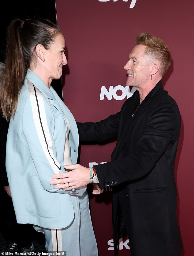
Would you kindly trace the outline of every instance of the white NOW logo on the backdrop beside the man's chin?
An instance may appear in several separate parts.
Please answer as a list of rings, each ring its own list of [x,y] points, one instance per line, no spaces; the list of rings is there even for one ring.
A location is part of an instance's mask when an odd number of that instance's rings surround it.
[[[121,95],[117,94],[117,91],[121,91]],[[125,99],[127,96],[127,99],[130,98],[133,93],[136,91],[136,87],[132,87],[131,91],[129,89],[129,85],[126,85],[125,87],[122,85],[117,85],[113,87],[112,85],[109,87],[109,91],[106,89],[105,86],[101,87],[101,92],[100,92],[100,100],[104,100],[104,96],[108,100],[111,100],[112,97],[116,100],[122,100]]]

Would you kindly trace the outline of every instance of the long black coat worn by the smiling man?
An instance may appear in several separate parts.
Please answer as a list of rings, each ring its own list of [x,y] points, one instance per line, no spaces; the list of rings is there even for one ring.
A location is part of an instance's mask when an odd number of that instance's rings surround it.
[[[111,162],[95,166],[99,187],[113,186],[115,249],[121,209],[132,256],[180,256],[174,179],[180,112],[161,81],[139,104],[135,91],[117,114],[96,123],[77,123],[80,140],[117,136]]]

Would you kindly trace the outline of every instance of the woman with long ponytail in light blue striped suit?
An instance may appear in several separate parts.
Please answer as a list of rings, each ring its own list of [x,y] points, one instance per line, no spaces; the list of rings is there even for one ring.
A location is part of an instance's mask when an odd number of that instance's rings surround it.
[[[6,170],[17,222],[43,232],[47,251],[96,256],[86,188],[69,193],[49,184],[77,161],[76,122],[50,86],[67,64],[65,39],[48,20],[15,19],[6,49],[1,107],[10,119]]]

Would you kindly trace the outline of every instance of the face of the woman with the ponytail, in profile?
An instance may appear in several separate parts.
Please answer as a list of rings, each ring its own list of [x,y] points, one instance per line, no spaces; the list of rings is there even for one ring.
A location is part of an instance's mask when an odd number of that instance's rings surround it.
[[[58,34],[55,42],[46,51],[45,68],[51,83],[52,79],[59,79],[62,76],[63,65],[67,64],[65,56],[65,39],[62,34]]]

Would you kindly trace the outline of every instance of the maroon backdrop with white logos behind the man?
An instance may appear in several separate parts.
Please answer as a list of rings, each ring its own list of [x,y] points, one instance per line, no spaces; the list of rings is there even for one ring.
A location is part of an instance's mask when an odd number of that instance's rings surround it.
[[[175,178],[185,256],[194,255],[193,9],[192,0],[56,0],[57,22],[65,36],[68,58],[62,76],[63,99],[78,122],[106,118],[118,112],[132,95],[133,91],[130,94],[125,88],[123,66],[137,34],[148,32],[169,46],[173,61],[162,82],[176,100],[182,118]],[[110,161],[114,146],[114,141],[82,145],[79,162],[89,167],[92,162]],[[88,185],[91,196],[90,189]],[[111,193],[105,191],[90,200],[99,256],[113,255]],[[127,237],[120,241],[119,256],[130,255],[129,243]]]

